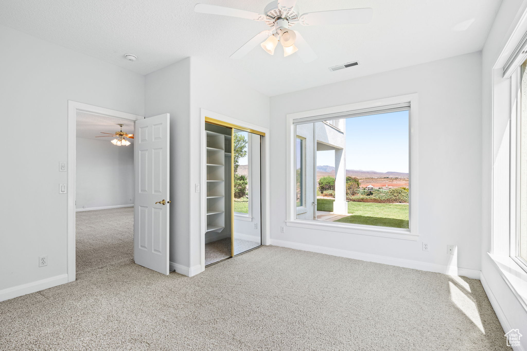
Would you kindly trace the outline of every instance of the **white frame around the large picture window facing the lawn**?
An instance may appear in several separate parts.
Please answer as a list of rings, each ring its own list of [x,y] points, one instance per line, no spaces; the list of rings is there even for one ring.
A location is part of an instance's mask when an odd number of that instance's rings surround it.
[[[334,116],[335,114],[343,114],[346,112],[353,112],[356,110],[363,110],[367,108],[384,107],[388,105],[409,103],[409,228],[392,228],[381,226],[370,226],[361,224],[340,224],[334,222],[314,221],[310,219],[296,218],[296,128],[294,121],[305,120],[306,122],[312,120],[317,116]],[[331,119],[328,116],[328,119]],[[321,108],[311,111],[298,112],[287,114],[287,217],[286,225],[292,227],[301,227],[308,229],[329,230],[333,232],[341,232],[348,234],[371,235],[389,238],[398,238],[405,240],[418,239],[418,94],[401,95],[383,99],[377,99],[367,102],[352,103],[347,105],[340,105],[334,107]],[[295,200],[292,202],[292,200]]]

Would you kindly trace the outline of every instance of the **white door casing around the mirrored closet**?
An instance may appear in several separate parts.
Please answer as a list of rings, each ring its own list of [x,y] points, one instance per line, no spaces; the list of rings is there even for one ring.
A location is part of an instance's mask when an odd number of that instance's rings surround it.
[[[201,118],[200,118],[200,136],[201,140],[201,163],[200,163],[200,188],[201,190],[201,204],[200,204],[200,213],[201,213],[201,236],[200,236],[200,246],[201,246],[201,272],[205,270],[205,233],[207,232],[207,138],[204,137],[205,134],[205,118],[216,119],[217,121],[223,122],[223,125],[227,127],[241,127],[248,132],[257,132],[264,133],[265,136],[261,137],[261,233],[262,233],[262,245],[270,245],[270,191],[269,191],[269,128],[265,128],[256,124],[252,124],[246,121],[241,121],[241,119],[236,119],[228,117],[216,112],[209,111],[207,109],[201,108]]]

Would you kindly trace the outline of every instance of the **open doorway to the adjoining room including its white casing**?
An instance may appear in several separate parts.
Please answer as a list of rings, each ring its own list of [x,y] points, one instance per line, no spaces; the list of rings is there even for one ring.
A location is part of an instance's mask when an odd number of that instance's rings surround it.
[[[77,271],[133,258],[134,139],[123,138],[130,142],[128,146],[112,141],[120,139],[113,136],[121,131],[118,124],[131,136],[141,119],[68,102],[68,155],[67,162],[60,163],[60,171],[67,172],[67,183],[60,190],[67,193],[68,282],[76,279]],[[104,135],[109,137],[95,138]]]

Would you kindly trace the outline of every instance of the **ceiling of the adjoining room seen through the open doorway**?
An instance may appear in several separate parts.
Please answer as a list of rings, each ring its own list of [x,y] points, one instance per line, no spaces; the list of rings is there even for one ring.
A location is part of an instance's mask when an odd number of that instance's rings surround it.
[[[115,137],[96,138],[101,136],[101,132],[115,133],[121,129],[118,124],[123,124],[123,132],[134,133],[134,123],[114,117],[97,115],[89,112],[77,112],[77,138],[86,138],[111,142]],[[133,139],[129,142],[133,143]]]

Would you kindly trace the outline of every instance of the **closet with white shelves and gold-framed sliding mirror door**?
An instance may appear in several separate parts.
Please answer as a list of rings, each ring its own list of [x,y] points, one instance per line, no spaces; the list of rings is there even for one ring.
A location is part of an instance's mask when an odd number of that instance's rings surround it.
[[[252,132],[206,118],[206,266],[261,245],[263,133]]]

